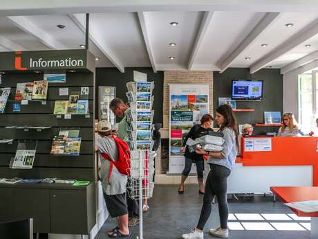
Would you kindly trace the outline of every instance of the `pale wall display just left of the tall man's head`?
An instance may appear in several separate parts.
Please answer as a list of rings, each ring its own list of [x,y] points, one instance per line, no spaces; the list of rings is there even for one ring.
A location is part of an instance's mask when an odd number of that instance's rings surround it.
[[[116,87],[98,87],[100,101],[99,101],[99,120],[105,120],[111,122],[111,125],[115,125],[115,115],[109,108],[111,100],[116,97]]]

